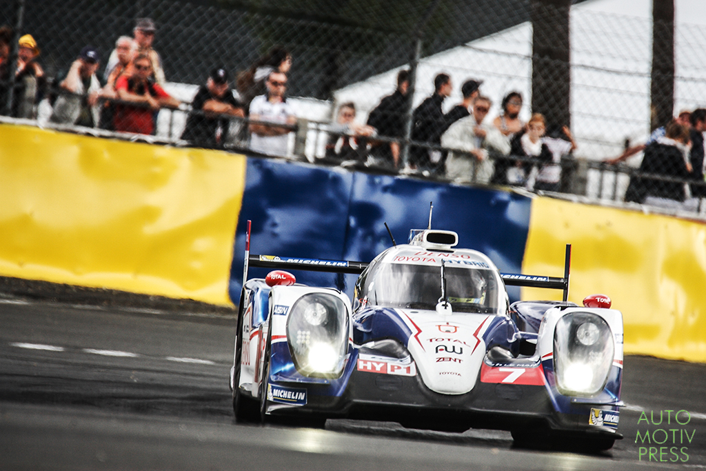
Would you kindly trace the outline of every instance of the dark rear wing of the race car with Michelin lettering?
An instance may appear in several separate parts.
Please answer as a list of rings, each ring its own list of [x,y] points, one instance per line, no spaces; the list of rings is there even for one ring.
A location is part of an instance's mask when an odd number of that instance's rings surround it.
[[[563,290],[563,300],[566,301],[569,292],[569,266],[571,261],[571,244],[566,244],[564,258],[564,276],[556,278],[551,276],[519,275],[514,273],[501,273],[505,285],[525,286],[533,288],[549,288]],[[359,275],[368,266],[366,262],[319,260],[316,258],[294,258],[273,255],[250,254],[250,237],[246,236],[245,266],[243,284],[247,280],[248,266],[270,268],[271,270],[307,270],[328,273],[351,273]]]

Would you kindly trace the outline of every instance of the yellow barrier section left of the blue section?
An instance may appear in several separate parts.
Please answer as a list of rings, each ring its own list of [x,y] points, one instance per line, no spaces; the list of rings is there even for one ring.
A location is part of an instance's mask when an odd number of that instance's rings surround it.
[[[246,157],[0,124],[0,275],[231,304]]]

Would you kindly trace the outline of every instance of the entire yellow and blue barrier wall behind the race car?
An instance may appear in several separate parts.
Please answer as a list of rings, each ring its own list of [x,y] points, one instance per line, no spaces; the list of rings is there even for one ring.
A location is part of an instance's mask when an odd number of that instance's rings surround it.
[[[459,234],[505,273],[606,294],[625,351],[706,362],[706,224],[491,189],[0,124],[0,276],[238,302],[251,254],[370,261],[409,229]],[[353,292],[356,275],[295,271]],[[249,276],[266,270],[251,268]],[[510,299],[561,292],[510,288]]]

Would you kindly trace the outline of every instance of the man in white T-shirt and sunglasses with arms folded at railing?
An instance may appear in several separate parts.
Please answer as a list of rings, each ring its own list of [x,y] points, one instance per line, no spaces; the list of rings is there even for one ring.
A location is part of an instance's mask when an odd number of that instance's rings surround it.
[[[285,92],[287,91],[287,76],[283,72],[273,71],[267,81],[266,95],[258,95],[250,103],[251,121],[267,121],[272,124],[297,124],[294,109],[289,106]],[[256,152],[287,157],[289,149],[289,133],[291,129],[272,124],[251,122],[250,148]]]

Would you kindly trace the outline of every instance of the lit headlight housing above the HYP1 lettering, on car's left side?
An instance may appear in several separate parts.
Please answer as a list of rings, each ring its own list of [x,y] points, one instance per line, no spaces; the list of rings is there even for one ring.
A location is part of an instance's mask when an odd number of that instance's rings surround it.
[[[287,318],[294,366],[304,376],[337,378],[348,350],[348,311],[339,297],[310,293],[294,302]]]

